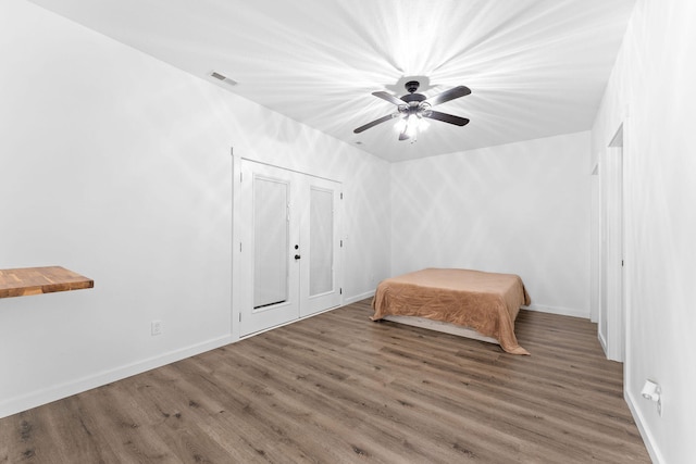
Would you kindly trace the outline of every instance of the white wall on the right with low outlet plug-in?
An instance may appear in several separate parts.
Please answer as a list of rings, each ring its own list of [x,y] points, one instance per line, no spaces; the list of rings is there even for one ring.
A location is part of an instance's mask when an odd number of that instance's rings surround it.
[[[625,398],[662,463],[696,456],[695,17],[693,1],[638,0],[593,128],[601,163],[624,124]],[[646,378],[662,386],[661,417]]]

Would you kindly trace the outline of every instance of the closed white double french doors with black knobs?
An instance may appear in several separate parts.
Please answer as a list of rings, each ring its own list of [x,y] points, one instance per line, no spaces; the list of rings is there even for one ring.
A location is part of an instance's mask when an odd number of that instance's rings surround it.
[[[239,328],[247,336],[340,304],[340,184],[241,160]]]

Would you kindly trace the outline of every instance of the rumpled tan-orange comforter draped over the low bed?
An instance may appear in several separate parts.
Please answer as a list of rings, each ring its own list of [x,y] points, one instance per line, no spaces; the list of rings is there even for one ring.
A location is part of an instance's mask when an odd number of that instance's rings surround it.
[[[372,321],[401,315],[448,322],[497,339],[508,353],[530,354],[514,336],[520,305],[530,303],[518,275],[427,268],[380,283]]]

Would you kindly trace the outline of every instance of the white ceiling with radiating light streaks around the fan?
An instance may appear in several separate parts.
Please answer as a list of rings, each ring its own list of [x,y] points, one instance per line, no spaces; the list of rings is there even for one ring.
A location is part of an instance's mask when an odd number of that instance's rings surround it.
[[[635,0],[33,0],[389,161],[592,127]],[[237,80],[215,81],[211,72]],[[399,141],[371,95],[427,97],[468,117]]]

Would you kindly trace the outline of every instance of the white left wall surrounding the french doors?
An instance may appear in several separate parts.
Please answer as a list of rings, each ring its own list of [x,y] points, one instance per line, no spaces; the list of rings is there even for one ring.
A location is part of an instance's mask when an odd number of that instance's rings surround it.
[[[0,57],[0,268],[95,279],[0,299],[0,416],[233,341],[231,146],[344,183],[346,300],[388,276],[384,161],[23,0]]]

